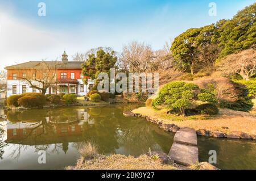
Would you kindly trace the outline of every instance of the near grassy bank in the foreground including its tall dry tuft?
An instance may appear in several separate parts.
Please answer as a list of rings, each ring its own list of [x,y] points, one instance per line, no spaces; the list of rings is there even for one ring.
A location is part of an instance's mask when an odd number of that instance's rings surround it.
[[[160,169],[174,170],[176,169],[171,159],[167,157],[164,160],[160,159],[158,154],[151,153],[141,155],[138,158],[133,156],[112,154],[102,155],[98,153],[98,146],[93,141],[85,142],[79,149],[81,157],[77,161],[76,166],[69,166],[66,169],[90,169],[90,170],[144,170],[144,169]],[[162,158],[162,157],[161,157]]]

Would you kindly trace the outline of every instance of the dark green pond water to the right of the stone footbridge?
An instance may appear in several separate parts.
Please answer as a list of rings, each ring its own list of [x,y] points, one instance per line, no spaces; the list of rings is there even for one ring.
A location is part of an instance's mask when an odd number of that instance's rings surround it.
[[[200,161],[208,161],[209,150],[217,151],[220,169],[256,169],[256,143],[252,140],[199,137]]]

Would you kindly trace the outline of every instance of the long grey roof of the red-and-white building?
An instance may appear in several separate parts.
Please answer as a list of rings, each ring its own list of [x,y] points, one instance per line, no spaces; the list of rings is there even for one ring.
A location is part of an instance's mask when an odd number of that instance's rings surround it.
[[[81,64],[83,62],[79,61],[68,61],[66,63],[62,61],[44,61],[50,68],[57,68],[57,69],[81,69]],[[16,64],[11,66],[6,66],[5,69],[34,69],[36,66],[39,66],[42,61],[29,61],[24,62],[22,64]]]

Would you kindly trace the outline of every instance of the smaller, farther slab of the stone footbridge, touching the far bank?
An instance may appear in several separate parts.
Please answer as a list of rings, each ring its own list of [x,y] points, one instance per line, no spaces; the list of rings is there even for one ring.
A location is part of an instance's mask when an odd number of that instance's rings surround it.
[[[176,132],[174,141],[185,145],[197,145],[197,136],[194,129],[181,128]]]

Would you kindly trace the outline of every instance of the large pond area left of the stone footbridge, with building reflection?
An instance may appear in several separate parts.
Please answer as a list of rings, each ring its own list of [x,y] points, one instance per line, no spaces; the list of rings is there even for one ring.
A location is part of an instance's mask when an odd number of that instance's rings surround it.
[[[8,145],[3,148],[0,169],[64,169],[75,165],[84,141],[94,141],[102,154],[138,156],[149,148],[168,153],[174,134],[144,119],[122,115],[133,108],[113,105],[5,112],[7,121],[2,123],[6,124]],[[46,151],[46,164],[38,163],[39,150]]]

